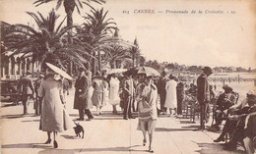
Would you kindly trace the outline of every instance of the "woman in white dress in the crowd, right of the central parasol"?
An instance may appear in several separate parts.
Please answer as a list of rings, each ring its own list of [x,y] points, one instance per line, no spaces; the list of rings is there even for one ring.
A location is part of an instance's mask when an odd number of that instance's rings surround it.
[[[177,82],[174,80],[172,75],[169,76],[169,80],[166,82],[166,99],[164,107],[169,109],[169,114],[171,115],[171,110],[174,110],[174,115],[176,114],[177,108],[177,92],[176,92]]]

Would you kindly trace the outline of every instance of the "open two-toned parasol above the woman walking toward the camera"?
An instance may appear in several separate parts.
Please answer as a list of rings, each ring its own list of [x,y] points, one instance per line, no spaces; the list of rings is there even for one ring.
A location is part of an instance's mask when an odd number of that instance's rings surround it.
[[[150,67],[138,67],[128,70],[124,75],[146,75],[146,77],[160,76],[160,73]]]

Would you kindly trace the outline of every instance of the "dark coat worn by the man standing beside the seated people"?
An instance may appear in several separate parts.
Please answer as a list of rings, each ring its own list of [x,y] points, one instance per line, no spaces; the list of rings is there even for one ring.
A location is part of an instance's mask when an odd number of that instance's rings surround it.
[[[210,87],[205,74],[197,78],[197,100],[199,104],[210,102]]]

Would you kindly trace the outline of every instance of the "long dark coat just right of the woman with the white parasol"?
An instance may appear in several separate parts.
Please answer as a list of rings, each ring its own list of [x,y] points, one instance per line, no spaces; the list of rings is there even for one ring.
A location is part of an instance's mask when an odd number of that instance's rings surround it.
[[[74,109],[92,109],[92,99],[89,98],[90,80],[86,76],[77,78],[75,82]]]

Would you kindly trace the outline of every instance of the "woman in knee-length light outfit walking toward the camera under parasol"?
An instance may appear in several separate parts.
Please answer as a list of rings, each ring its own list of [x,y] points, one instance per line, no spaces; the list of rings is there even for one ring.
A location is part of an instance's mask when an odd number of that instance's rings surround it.
[[[145,86],[141,84],[142,87]],[[149,144],[149,152],[154,152],[152,147],[153,142],[153,133],[156,129],[157,125],[157,101],[158,101],[158,88],[153,83],[152,77],[146,78],[146,86],[144,87],[141,100],[138,101],[138,112],[139,112],[139,123],[138,130],[142,130],[143,132],[143,145],[145,146],[147,143],[146,133],[148,131],[150,144]]]

